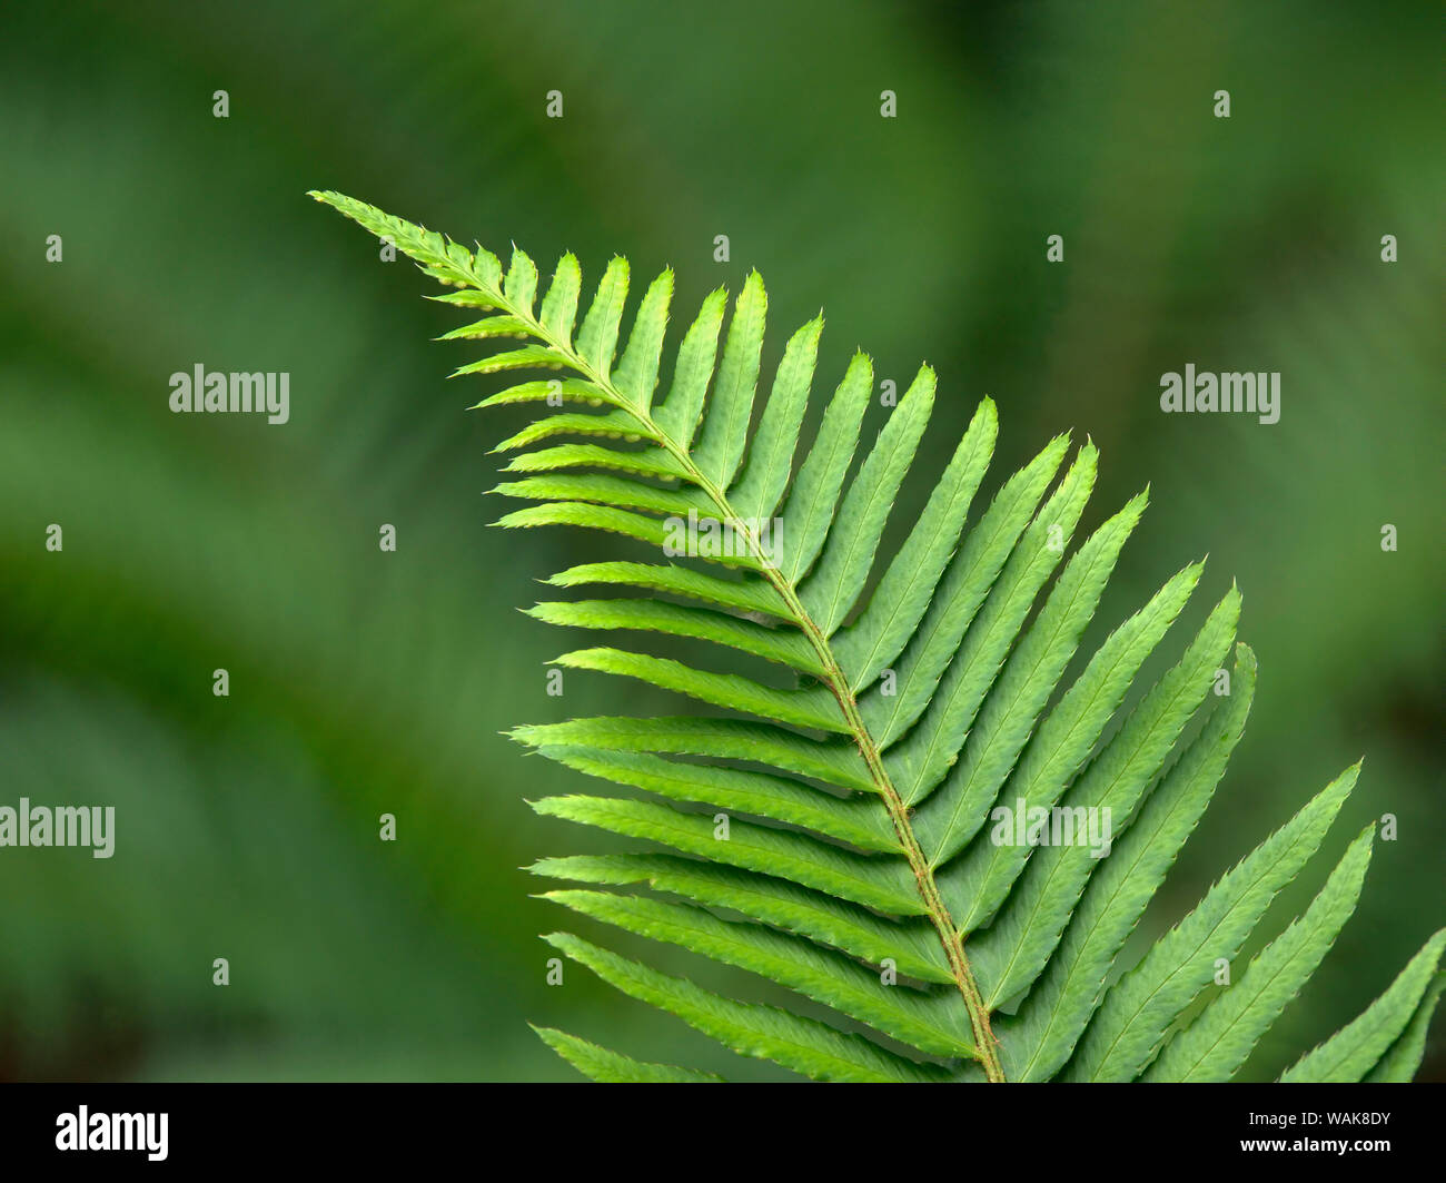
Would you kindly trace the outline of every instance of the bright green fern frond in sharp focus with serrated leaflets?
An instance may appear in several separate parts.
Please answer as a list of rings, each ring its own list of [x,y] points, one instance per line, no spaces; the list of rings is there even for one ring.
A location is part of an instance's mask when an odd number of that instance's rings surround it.
[[[723,998],[567,933],[548,941],[729,1049],[816,1079],[1216,1080],[1239,1070],[1351,915],[1374,824],[1306,913],[1203,1005],[1219,966],[1320,846],[1359,765],[1116,973],[1126,937],[1223,774],[1255,686],[1254,655],[1233,644],[1241,599],[1232,587],[1183,658],[1124,710],[1141,665],[1200,578],[1196,563],[1115,629],[1056,699],[1145,493],[1077,548],[1031,618],[1083,515],[1096,451],[1079,448],[1045,499],[1069,447],[1066,437],[1051,440],[964,534],[996,430],[985,399],[908,539],[862,600],[930,414],[928,367],[844,492],[873,389],[870,363],[853,357],[794,473],[823,323],[790,338],[750,437],[766,305],[756,273],[735,302],[722,359],[720,289],[684,336],[671,389],[654,405],[671,272],[648,288],[615,366],[623,259],[609,265],[574,333],[581,276],[571,255],[534,312],[538,273],[521,250],[503,273],[480,247],[340,194],[312,197],[455,289],[435,299],[487,312],[448,338],[528,341],[457,373],[570,375],[523,382],[479,406],[594,408],[544,415],[499,444],[547,444],[513,457],[509,470],[519,479],[496,490],[541,505],[500,525],[580,525],[669,552],[681,539],[714,568],[574,567],[549,583],[654,596],[542,603],[532,615],[709,641],[795,675],[778,686],[617,648],[581,649],[558,664],[641,678],[759,722],[574,719],[513,735],[596,778],[706,807],[613,795],[536,803],[544,814],[677,852],[544,859],[532,868],[538,875],[591,885],[547,898],[759,973],[830,1008],[833,1021]],[[552,443],[558,435],[589,443]],[[1228,694],[1212,693],[1225,686]],[[1021,842],[1019,816],[1031,829],[1063,826],[1069,837],[1040,845],[1030,837],[1044,832],[1034,830]],[[1076,840],[1086,830],[1090,840]],[[633,885],[656,895],[596,889]],[[1281,1079],[1408,1079],[1440,994],[1443,947],[1446,930],[1355,1022]],[[561,1031],[539,1034],[596,1079],[711,1079]]]

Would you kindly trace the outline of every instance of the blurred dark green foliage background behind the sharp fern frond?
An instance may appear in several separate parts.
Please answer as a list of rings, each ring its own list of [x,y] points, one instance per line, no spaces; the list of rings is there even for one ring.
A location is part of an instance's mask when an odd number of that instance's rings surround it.
[[[613,252],[636,276],[671,263],[675,321],[756,266],[765,364],[824,305],[816,392],[855,346],[899,389],[937,367],[923,473],[991,393],[986,490],[1064,428],[1103,453],[1086,526],[1148,482],[1083,652],[1209,552],[1163,659],[1236,577],[1261,688],[1147,933],[1361,755],[1274,930],[1351,834],[1400,819],[1251,1075],[1446,920],[1439,6],[250,0],[3,22],[0,801],[114,804],[117,850],[0,850],[0,1077],[573,1077],[528,1020],[768,1075],[580,969],[545,985],[536,934],[580,921],[518,868],[600,839],[531,813],[578,778],[499,732],[675,704],[586,674],[547,697],[576,638],[515,609],[616,544],[486,528],[487,450],[521,418],[463,412],[497,383],[444,380],[474,356],[428,340],[455,311],[308,188],[539,263],[571,249],[594,279]],[[1280,370],[1281,421],[1163,415],[1160,375],[1186,362]],[[291,422],[171,414],[168,376],[197,363],[289,372]]]

